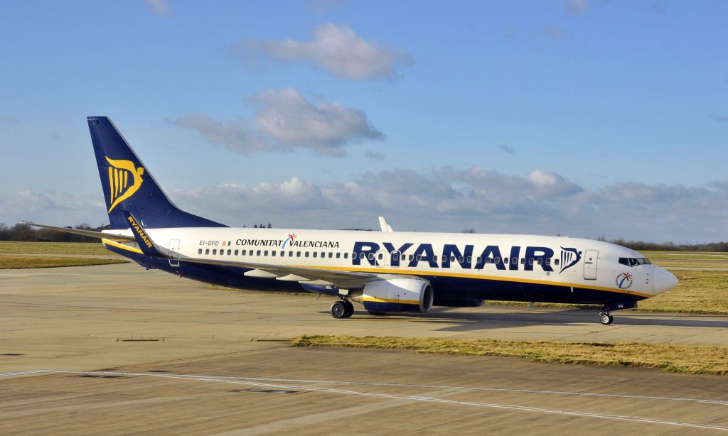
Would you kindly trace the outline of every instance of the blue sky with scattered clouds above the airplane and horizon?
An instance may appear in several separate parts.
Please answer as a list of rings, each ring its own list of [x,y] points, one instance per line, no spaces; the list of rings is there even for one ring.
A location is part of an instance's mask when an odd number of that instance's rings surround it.
[[[728,240],[727,1],[3,1],[0,222],[108,223],[86,116],[227,225]]]

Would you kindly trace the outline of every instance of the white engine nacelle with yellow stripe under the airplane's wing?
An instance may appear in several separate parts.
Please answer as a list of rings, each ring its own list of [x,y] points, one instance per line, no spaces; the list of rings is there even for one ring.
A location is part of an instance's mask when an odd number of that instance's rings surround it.
[[[367,283],[363,294],[352,299],[370,312],[425,313],[432,309],[434,296],[432,285],[425,280],[392,278]]]

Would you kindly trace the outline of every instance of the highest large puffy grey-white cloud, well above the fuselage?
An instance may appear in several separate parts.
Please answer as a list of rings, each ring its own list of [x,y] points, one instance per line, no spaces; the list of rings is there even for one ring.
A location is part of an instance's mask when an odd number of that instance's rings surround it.
[[[309,62],[335,76],[351,79],[394,78],[398,66],[411,63],[407,53],[366,41],[348,25],[333,23],[315,28],[310,41],[243,41],[232,49],[234,55],[246,61],[251,52],[274,60]]]

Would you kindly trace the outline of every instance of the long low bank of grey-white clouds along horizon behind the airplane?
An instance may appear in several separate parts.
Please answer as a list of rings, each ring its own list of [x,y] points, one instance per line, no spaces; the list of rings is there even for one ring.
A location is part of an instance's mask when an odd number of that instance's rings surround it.
[[[474,227],[480,233],[604,234],[678,243],[728,239],[728,181],[708,187],[620,182],[587,189],[549,171],[514,176],[443,166],[368,172],[328,183],[291,177],[167,193],[186,211],[235,226],[376,228],[376,217],[384,215],[403,231]],[[106,221],[106,211],[100,189],[93,198],[28,191],[0,197],[0,222],[20,219],[96,225]]]

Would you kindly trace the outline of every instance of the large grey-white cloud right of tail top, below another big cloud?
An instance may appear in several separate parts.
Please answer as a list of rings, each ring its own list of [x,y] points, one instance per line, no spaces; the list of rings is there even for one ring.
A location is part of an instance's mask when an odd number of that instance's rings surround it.
[[[189,115],[173,122],[193,129],[214,145],[240,153],[308,148],[320,156],[344,156],[350,143],[384,140],[362,110],[336,102],[309,102],[293,88],[265,91],[251,97],[258,112],[253,121],[214,121]]]

